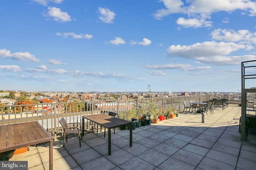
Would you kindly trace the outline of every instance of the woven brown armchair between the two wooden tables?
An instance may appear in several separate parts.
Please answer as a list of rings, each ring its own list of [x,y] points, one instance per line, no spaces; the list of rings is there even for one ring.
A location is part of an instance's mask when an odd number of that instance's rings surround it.
[[[79,123],[79,122],[67,123],[66,120],[63,117],[60,119],[59,122],[62,125],[63,131],[64,131],[64,134],[63,134],[63,149],[65,148],[65,137],[66,137],[66,143],[67,143],[68,142],[68,135],[73,135],[73,134],[78,135],[79,145],[81,147],[81,140],[83,140],[81,123]],[[68,125],[72,125],[72,126],[68,127]],[[81,139],[80,139],[80,137],[81,137]]]

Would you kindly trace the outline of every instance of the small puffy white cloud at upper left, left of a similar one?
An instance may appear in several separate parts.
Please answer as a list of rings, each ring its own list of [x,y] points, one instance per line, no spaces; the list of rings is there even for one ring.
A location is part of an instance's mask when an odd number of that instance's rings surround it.
[[[54,21],[69,22],[71,17],[67,12],[62,12],[60,8],[48,7],[48,14],[45,16],[53,17]]]

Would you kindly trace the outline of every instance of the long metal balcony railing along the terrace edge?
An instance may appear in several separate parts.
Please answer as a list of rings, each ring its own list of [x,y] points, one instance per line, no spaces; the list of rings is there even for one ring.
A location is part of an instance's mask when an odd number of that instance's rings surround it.
[[[59,120],[64,117],[68,123],[81,122],[83,115],[98,114],[108,111],[127,112],[131,109],[140,110],[141,107],[154,103],[160,109],[172,108],[184,109],[183,100],[204,102],[212,98],[223,98],[223,96],[178,96],[167,98],[142,98],[127,100],[86,101],[86,102],[58,102],[46,104],[28,104],[0,106],[0,125],[38,121],[45,129],[54,136],[59,132],[61,125]],[[254,101],[255,96],[248,97],[248,101]],[[238,104],[240,96],[230,96],[230,104]],[[148,109],[148,107],[145,107]]]

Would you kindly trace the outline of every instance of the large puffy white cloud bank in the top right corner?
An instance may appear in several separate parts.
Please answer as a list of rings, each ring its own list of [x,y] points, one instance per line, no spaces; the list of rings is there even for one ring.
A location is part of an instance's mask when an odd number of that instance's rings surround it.
[[[256,15],[256,2],[251,0],[188,0],[187,6],[181,0],[160,0],[166,8],[157,10],[154,18],[161,20],[171,14],[187,14],[188,18],[179,18],[176,23],[184,27],[209,27],[212,22],[207,21],[210,15],[215,12],[233,12],[242,10],[249,13],[249,16]],[[226,23],[228,20],[224,20]]]

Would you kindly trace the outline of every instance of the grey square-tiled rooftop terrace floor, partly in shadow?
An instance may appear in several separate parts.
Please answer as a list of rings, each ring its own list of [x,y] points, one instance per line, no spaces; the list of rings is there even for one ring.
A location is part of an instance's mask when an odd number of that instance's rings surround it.
[[[251,109],[250,114],[255,114]],[[112,131],[112,154],[103,133],[85,134],[82,147],[78,138],[54,141],[55,170],[252,170],[256,169],[256,135],[240,140],[238,133],[241,107],[215,109],[214,114],[180,113],[174,119],[146,125],[133,131]],[[107,133],[106,133],[107,134]],[[49,169],[48,143],[30,147],[10,160],[28,161],[30,170]]]

